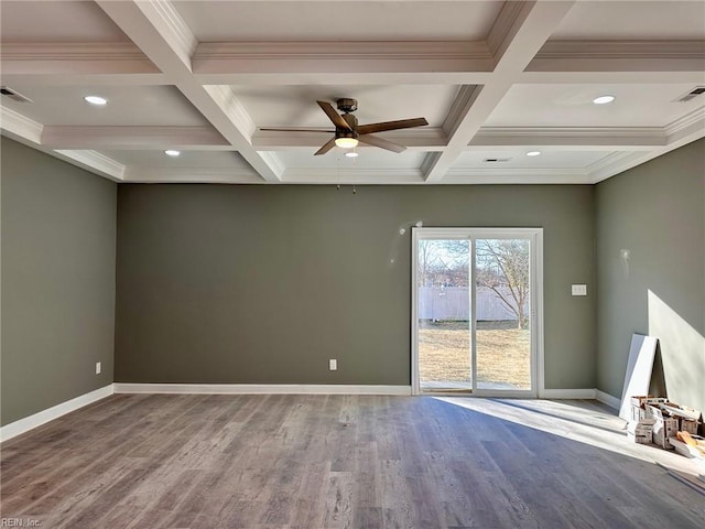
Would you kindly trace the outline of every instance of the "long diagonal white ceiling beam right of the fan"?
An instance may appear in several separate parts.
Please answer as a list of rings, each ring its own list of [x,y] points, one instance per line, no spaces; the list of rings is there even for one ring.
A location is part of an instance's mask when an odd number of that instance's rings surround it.
[[[502,7],[487,39],[496,61],[492,78],[482,87],[466,87],[458,94],[460,110],[446,129],[447,148],[425,164],[427,183],[441,181],[453,166],[573,4],[539,1],[507,2]]]

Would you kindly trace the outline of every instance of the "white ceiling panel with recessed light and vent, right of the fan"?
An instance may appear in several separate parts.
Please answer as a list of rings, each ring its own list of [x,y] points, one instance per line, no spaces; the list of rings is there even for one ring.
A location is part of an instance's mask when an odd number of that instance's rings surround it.
[[[705,96],[673,100],[693,89],[669,85],[514,85],[487,120],[494,127],[664,127],[705,106]],[[594,98],[612,95],[609,105]]]

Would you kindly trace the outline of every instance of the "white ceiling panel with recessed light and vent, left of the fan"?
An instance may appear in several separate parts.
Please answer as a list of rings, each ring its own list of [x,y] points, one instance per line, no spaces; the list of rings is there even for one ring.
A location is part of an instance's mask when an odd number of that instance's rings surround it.
[[[2,104],[42,125],[199,126],[200,114],[172,86],[36,86],[13,85],[33,102],[4,98]],[[108,105],[84,101],[98,95]]]

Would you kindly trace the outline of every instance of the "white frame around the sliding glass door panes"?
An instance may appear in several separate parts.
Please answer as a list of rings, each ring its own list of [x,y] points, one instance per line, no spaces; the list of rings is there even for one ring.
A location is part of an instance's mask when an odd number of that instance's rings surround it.
[[[523,237],[531,240],[530,253],[530,313],[531,313],[531,390],[488,390],[476,389],[475,374],[476,355],[473,361],[473,390],[478,397],[536,397],[544,389],[544,336],[543,336],[543,228],[416,228],[411,229],[411,389],[413,395],[421,395],[419,374],[419,289],[416,276],[419,268],[420,239],[467,239],[470,240],[470,252],[477,239],[501,239]],[[470,256],[470,267],[475,267],[475,258]],[[475,270],[473,270],[474,272]],[[475,274],[473,273],[473,277]],[[475,299],[475,281],[470,281],[470,295]],[[470,317],[470,325],[475,325],[475,317]],[[473,333],[474,335],[475,333]],[[474,347],[474,345],[473,345]],[[469,354],[469,352],[468,352]],[[429,395],[424,391],[423,395]],[[457,395],[457,393],[454,393]]]

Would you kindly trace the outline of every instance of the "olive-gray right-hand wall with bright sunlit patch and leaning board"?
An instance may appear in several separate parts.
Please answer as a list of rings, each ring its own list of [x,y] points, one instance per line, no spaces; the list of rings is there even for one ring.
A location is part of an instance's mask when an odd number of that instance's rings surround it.
[[[669,397],[705,410],[705,140],[599,183],[596,206],[597,387],[621,396],[631,334],[649,334]]]

